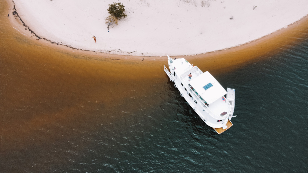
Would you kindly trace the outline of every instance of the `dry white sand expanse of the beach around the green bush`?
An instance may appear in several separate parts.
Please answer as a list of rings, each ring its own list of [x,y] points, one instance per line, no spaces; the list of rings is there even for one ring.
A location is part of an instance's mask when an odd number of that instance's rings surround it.
[[[78,49],[139,56],[222,50],[271,34],[308,14],[308,0],[14,2],[22,20],[41,37]],[[124,4],[127,17],[107,32],[105,18],[113,2]]]

